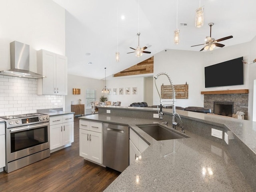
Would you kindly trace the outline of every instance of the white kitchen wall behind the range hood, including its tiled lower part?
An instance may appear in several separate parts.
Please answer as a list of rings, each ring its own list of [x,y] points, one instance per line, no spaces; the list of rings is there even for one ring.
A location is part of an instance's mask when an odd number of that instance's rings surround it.
[[[10,69],[10,42],[30,45],[30,70],[36,50],[65,55],[65,10],[52,0],[0,0],[0,70]],[[51,70],[51,69],[49,69]],[[0,115],[64,107],[63,96],[38,96],[36,80],[0,76]]]

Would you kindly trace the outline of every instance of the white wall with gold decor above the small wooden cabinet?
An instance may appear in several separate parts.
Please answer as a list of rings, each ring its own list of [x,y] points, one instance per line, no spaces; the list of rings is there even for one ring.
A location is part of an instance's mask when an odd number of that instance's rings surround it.
[[[72,101],[78,104],[78,99],[82,100],[82,104],[86,104],[86,89],[96,90],[96,100],[100,100],[102,96],[101,90],[104,87],[104,81],[81,76],[68,74],[68,95],[65,96],[66,111],[71,111]],[[80,95],[73,95],[73,88],[78,88],[81,91]],[[86,106],[86,105],[85,105]],[[91,108],[87,109],[85,114],[90,114]]]

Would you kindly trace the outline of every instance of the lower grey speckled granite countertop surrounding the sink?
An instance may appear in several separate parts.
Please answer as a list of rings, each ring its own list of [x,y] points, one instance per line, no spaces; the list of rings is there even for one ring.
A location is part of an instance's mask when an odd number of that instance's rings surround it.
[[[142,108],[138,110],[142,110]],[[202,114],[188,114],[187,112],[182,114],[180,111],[179,114],[181,116],[188,115],[187,118],[196,118],[197,120],[199,118],[199,120],[214,124],[222,124],[218,117],[206,118],[203,115],[203,118]],[[138,160],[128,166],[106,188],[106,192],[253,191],[226,147],[220,143],[198,136],[188,130],[185,130],[185,134],[190,138],[156,141],[136,126],[161,123],[162,121],[159,119],[108,116],[106,114],[89,115],[80,117],[80,119],[129,125],[150,144]],[[227,121],[229,126],[231,122]],[[236,132],[235,127],[234,132]],[[248,132],[240,134],[244,140],[246,140],[246,135],[248,136]]]

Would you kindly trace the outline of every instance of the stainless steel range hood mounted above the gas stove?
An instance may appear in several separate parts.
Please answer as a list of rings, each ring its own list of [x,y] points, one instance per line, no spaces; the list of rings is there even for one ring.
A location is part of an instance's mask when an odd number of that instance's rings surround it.
[[[29,70],[29,45],[14,41],[10,43],[11,69],[0,71],[1,75],[25,77],[25,78],[44,78]]]

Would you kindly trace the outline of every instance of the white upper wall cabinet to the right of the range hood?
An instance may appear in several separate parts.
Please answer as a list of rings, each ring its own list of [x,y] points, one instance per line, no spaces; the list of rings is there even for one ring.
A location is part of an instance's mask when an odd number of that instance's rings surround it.
[[[67,95],[67,58],[46,50],[37,51],[37,72],[46,76],[37,80],[38,95]]]

